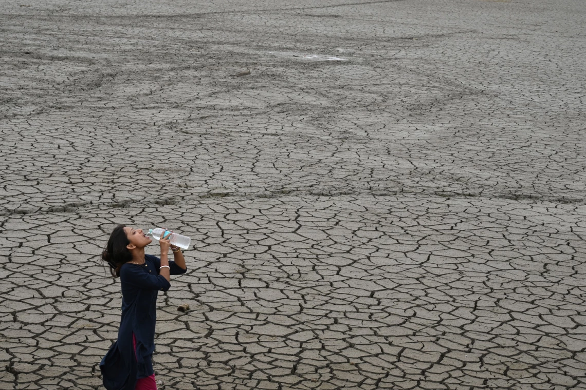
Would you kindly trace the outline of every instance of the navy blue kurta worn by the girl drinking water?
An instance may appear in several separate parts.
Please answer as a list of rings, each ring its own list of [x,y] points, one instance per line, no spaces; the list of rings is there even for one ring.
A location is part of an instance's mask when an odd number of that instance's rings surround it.
[[[122,287],[122,316],[118,340],[112,344],[100,363],[107,390],[134,390],[139,378],[154,374],[151,356],[155,351],[156,296],[171,284],[159,275],[161,259],[145,255],[144,264],[123,264],[120,268]],[[169,261],[171,275],[186,270]],[[137,340],[137,352],[132,348],[132,334]]]

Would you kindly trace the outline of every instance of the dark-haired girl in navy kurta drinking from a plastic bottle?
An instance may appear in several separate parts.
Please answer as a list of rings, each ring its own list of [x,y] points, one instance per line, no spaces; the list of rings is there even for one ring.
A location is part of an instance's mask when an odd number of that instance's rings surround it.
[[[156,390],[151,357],[155,350],[156,295],[167,291],[169,275],[185,274],[185,259],[179,247],[169,243],[171,234],[159,240],[161,258],[145,254],[152,242],[142,229],[117,226],[102,259],[120,277],[122,316],[118,341],[100,363],[107,390]],[[169,261],[169,248],[175,261]]]

